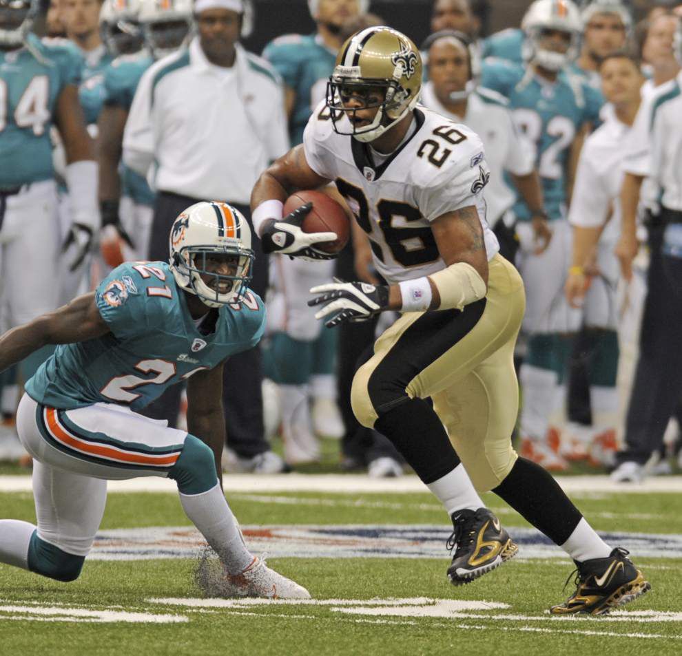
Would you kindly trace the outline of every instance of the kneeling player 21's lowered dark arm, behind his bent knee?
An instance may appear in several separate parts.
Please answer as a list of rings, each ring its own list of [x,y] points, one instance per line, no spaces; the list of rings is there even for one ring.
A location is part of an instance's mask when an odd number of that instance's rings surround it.
[[[216,459],[216,474],[223,484],[220,461],[225,445],[223,364],[199,371],[187,380],[187,432],[205,442]]]

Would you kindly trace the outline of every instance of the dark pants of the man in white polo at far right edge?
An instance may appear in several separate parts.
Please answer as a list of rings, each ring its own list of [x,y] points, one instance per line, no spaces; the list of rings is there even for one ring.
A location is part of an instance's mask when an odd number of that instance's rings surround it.
[[[618,454],[619,463],[643,465],[661,447],[682,396],[682,259],[662,253],[668,222],[682,222],[682,213],[663,209],[650,228],[639,361],[626,418],[626,449]]]

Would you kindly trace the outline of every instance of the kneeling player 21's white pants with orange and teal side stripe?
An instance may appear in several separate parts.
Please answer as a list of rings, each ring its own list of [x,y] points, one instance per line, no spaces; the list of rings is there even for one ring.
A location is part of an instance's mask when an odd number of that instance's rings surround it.
[[[17,432],[34,458],[38,536],[76,556],[92,547],[107,479],[167,476],[187,438],[121,405],[56,410],[28,394],[19,404]]]

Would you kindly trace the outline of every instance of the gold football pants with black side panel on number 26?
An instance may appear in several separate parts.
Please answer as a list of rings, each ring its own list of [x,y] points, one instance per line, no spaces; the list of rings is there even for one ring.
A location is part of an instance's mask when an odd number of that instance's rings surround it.
[[[517,458],[513,356],[524,308],[521,276],[495,255],[484,299],[462,311],[402,315],[355,374],[351,403],[358,421],[373,427],[396,405],[431,397],[476,489],[497,487]]]

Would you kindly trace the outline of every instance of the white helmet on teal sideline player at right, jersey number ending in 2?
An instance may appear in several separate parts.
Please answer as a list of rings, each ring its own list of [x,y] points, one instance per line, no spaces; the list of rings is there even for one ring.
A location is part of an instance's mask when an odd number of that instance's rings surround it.
[[[571,0],[535,0],[521,21],[521,29],[526,32],[524,55],[547,70],[561,70],[578,56],[582,21],[577,6]],[[568,50],[553,52],[541,47],[544,30],[570,34]]]

